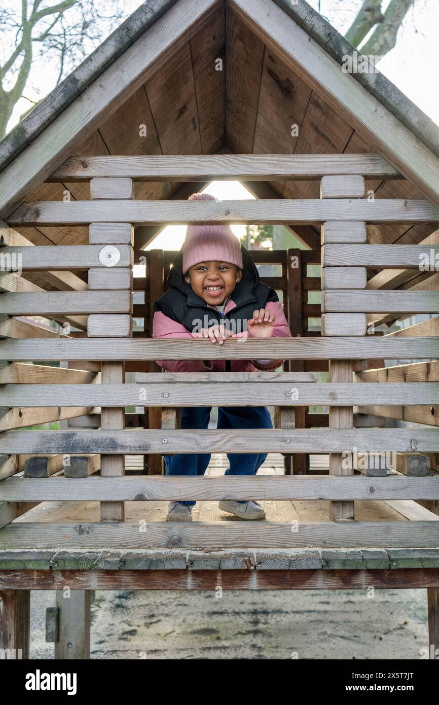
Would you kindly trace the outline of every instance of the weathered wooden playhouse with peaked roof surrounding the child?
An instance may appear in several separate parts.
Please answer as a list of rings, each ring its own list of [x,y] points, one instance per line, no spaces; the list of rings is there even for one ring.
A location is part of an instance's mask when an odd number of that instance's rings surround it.
[[[376,329],[439,313],[439,128],[380,73],[345,73],[354,52],[304,1],[144,3],[1,142],[4,657],[28,656],[32,589],[60,596],[56,658],[87,658],[95,589],[372,586],[427,589],[438,658],[439,317]],[[256,200],[187,201],[218,179]],[[144,247],[168,223],[217,221],[285,224],[303,243],[252,252],[278,267],[262,279],[292,338],[151,337],[175,252]],[[154,362],[214,357],[285,363]],[[200,393],[270,405],[276,428],[179,429]],[[163,477],[164,453],[194,450],[282,462]],[[263,501],[267,520],[226,520],[221,498]],[[171,499],[202,501],[192,524],[164,521]]]

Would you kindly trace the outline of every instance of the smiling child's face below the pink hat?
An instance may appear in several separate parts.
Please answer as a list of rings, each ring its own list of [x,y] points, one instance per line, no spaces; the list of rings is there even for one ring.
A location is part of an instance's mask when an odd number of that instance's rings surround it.
[[[192,291],[211,305],[222,304],[241,278],[242,270],[235,264],[214,260],[194,264],[185,274]]]

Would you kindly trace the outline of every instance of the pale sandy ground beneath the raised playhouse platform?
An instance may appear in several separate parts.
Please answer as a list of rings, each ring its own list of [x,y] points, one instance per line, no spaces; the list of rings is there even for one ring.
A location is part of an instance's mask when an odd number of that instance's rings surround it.
[[[30,658],[53,591],[32,592]],[[408,659],[428,644],[426,590],[97,591],[91,658]]]

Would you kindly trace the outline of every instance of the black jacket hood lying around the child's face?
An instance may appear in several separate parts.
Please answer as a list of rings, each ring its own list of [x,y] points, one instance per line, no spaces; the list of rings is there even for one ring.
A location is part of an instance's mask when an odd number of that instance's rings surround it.
[[[256,264],[254,264],[252,257],[250,257],[248,250],[241,245],[242,252],[242,278],[241,281],[237,283],[235,289],[231,294],[231,298],[237,306],[244,302],[256,301],[255,290],[259,286],[259,272],[256,269]],[[187,302],[191,305],[206,305],[206,302],[202,300],[197,294],[192,291],[192,286],[185,282],[183,278],[183,252],[180,250],[175,256],[173,261],[173,266],[171,271],[169,271],[168,277],[166,278],[166,283],[169,287],[174,287],[178,289],[187,297]]]

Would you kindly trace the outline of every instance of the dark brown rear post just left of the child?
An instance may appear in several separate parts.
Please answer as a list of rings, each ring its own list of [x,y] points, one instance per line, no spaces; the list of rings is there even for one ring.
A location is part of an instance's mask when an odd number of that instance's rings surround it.
[[[149,281],[149,337],[152,337],[152,319],[154,318],[154,303],[163,294],[164,287],[164,266],[163,266],[163,250],[149,250],[148,253],[148,272],[147,281]],[[149,372],[161,372],[156,362],[149,362]],[[149,429],[161,428],[161,407],[149,407],[148,409]],[[163,474],[163,455],[148,456],[148,474],[162,475]]]

